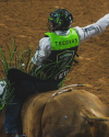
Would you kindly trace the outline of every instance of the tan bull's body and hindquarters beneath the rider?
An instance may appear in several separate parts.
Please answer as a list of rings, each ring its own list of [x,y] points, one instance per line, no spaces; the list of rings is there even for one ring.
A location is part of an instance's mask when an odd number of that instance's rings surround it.
[[[48,101],[53,92],[33,95],[23,105],[23,133],[27,137],[109,137],[105,118],[109,109],[96,95],[76,90]]]

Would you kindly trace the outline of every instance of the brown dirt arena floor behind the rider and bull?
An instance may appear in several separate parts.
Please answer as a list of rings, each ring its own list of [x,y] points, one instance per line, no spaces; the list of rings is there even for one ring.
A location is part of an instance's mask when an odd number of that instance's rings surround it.
[[[29,45],[37,49],[39,39],[48,31],[49,13],[58,8],[72,12],[72,27],[84,27],[109,13],[109,0],[0,0],[0,45],[5,55],[12,39],[23,49]],[[81,89],[96,94],[109,106],[109,27],[83,42],[78,55],[78,65],[66,76],[64,85],[89,84]],[[0,116],[0,137],[4,137],[3,117]]]

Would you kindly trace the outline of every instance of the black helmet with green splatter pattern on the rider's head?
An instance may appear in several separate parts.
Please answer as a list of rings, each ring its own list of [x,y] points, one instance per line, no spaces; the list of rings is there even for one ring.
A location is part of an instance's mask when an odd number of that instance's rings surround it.
[[[64,9],[57,9],[50,13],[47,26],[50,32],[68,31],[71,27],[72,21],[71,12]]]

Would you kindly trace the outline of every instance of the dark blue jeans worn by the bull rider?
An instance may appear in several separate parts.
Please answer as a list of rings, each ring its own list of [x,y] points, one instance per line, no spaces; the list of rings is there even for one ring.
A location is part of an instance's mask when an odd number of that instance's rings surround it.
[[[58,83],[55,81],[41,81],[39,80],[36,83],[33,83],[28,80],[23,80],[16,82],[16,93],[12,101],[12,103],[8,106],[4,119],[4,129],[5,134],[14,134],[14,133],[22,133],[22,123],[21,123],[21,109],[22,104],[26,98],[29,95],[57,90]]]

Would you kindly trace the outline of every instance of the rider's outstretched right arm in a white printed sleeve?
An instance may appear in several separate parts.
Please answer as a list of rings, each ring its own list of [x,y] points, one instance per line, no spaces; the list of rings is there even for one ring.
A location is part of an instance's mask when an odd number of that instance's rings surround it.
[[[85,27],[76,26],[74,30],[80,36],[80,43],[82,43],[83,41],[102,33],[107,26],[109,26],[109,13],[94,24],[87,25]]]

